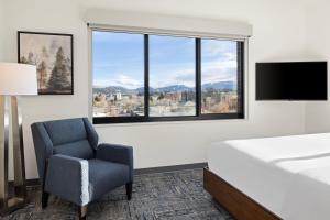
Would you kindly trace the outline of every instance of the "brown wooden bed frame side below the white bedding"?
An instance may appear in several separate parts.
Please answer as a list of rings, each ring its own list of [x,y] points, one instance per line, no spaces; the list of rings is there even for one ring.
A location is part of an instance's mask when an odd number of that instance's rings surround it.
[[[280,220],[208,167],[204,168],[204,188],[238,220]]]

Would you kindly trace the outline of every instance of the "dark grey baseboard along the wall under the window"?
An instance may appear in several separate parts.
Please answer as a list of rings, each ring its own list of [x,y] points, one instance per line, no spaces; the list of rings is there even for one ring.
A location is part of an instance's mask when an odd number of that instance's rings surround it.
[[[176,170],[184,170],[184,169],[195,169],[195,168],[204,168],[207,166],[207,163],[197,163],[197,164],[182,164],[182,165],[174,165],[174,166],[158,166],[158,167],[151,167],[151,168],[138,168],[134,170],[135,175],[143,175],[143,174],[155,174],[155,173],[166,173],[166,172],[176,172]],[[13,186],[13,182],[9,182],[10,186]],[[38,186],[40,180],[37,178],[34,179],[26,179],[26,186]]]

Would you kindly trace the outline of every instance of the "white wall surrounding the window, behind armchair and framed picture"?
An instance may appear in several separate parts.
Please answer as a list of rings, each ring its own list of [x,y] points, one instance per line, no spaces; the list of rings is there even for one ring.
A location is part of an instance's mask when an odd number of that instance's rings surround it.
[[[134,146],[135,167],[205,162],[207,146],[217,140],[304,133],[304,102],[254,101],[255,62],[296,59],[305,54],[306,14],[301,3],[287,0],[7,0],[4,51],[9,61],[16,61],[19,30],[72,33],[75,42],[75,95],[23,99],[28,178],[37,176],[30,123],[88,114],[88,36],[82,21],[88,8],[226,19],[254,26],[246,75],[246,120],[97,127],[102,141]]]

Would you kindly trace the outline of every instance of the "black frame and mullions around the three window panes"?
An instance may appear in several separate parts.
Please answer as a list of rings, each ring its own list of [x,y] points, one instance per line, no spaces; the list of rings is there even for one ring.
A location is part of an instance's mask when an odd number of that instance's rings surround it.
[[[105,30],[105,29],[90,29],[90,81],[91,81],[91,96],[92,99],[92,32],[112,32],[112,33],[134,33],[143,35],[144,44],[144,116],[141,117],[94,117],[92,116],[92,101],[91,102],[91,118],[94,124],[111,124],[111,123],[139,123],[139,122],[162,122],[162,121],[196,121],[196,120],[230,120],[230,119],[245,119],[245,48],[248,45],[246,38],[234,37],[205,37],[205,36],[190,36],[190,35],[175,35],[166,33],[142,33],[134,31],[122,30]],[[190,37],[195,40],[195,76],[196,76],[196,114],[195,116],[172,116],[172,117],[150,117],[150,35],[166,35],[178,37]],[[216,40],[216,41],[235,41],[238,43],[238,95],[241,97],[238,101],[237,113],[201,113],[201,40]]]

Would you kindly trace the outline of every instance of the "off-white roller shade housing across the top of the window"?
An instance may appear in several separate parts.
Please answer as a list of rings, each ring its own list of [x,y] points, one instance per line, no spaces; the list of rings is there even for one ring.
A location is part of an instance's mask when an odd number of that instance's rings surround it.
[[[191,37],[226,37],[231,40],[244,40],[252,35],[252,25],[243,22],[139,12],[88,10],[86,22],[91,29],[110,29],[147,34],[166,33]]]

